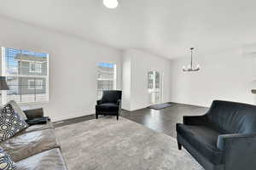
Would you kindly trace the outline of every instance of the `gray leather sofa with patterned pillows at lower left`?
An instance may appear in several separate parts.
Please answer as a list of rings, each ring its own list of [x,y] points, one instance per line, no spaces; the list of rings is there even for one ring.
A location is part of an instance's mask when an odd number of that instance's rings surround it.
[[[24,111],[28,119],[44,116],[43,109]],[[19,170],[67,170],[52,122],[33,125],[0,143]]]

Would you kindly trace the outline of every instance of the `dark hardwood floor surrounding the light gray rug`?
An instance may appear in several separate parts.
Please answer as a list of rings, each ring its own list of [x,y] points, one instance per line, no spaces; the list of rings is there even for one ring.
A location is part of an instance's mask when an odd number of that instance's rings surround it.
[[[171,103],[171,107],[162,110],[142,109],[138,111],[122,111],[120,116],[143,124],[160,133],[176,137],[176,123],[183,122],[183,116],[196,116],[206,113],[206,107]],[[95,119],[95,115],[77,117],[66,121],[54,122],[55,127],[61,127],[77,122]]]

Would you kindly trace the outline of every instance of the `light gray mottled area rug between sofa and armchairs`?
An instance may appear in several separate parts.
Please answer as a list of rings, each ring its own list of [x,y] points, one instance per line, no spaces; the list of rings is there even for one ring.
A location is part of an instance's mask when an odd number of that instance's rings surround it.
[[[176,139],[123,117],[57,127],[69,170],[203,170]]]

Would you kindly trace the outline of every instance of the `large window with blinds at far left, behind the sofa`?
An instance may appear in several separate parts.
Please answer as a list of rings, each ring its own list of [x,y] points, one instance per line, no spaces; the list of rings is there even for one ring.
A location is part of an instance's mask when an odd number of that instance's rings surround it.
[[[15,48],[1,48],[2,76],[8,91],[2,92],[2,104],[49,101],[49,54]]]

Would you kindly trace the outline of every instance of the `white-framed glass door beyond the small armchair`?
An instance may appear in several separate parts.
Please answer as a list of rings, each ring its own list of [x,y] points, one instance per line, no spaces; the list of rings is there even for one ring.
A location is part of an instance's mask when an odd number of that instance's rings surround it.
[[[161,87],[160,72],[148,71],[148,94],[150,104],[158,104],[161,102]]]

